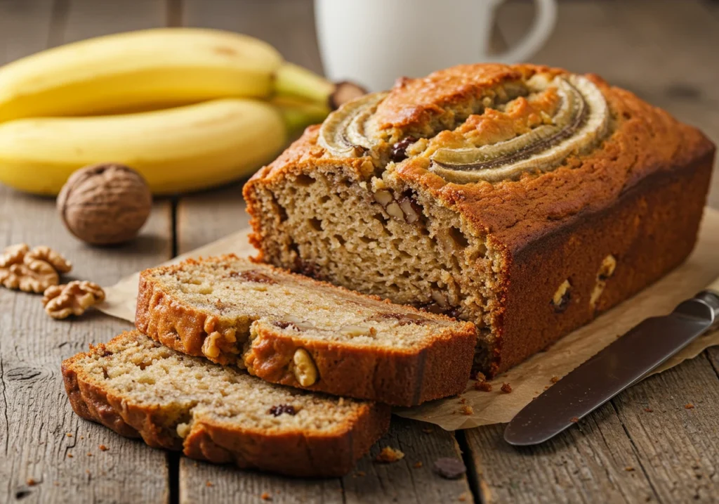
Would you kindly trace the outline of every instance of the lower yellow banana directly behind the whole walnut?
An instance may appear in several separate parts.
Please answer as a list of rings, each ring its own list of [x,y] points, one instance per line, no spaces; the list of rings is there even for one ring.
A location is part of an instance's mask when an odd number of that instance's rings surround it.
[[[21,119],[0,124],[0,182],[57,194],[93,163],[124,163],[154,194],[188,192],[252,174],[285,145],[270,104],[216,99],[157,112]]]

